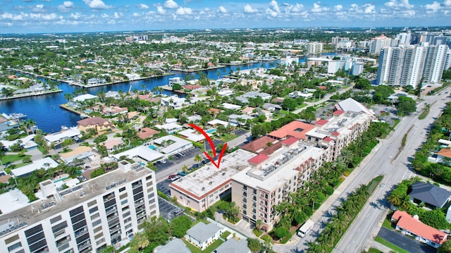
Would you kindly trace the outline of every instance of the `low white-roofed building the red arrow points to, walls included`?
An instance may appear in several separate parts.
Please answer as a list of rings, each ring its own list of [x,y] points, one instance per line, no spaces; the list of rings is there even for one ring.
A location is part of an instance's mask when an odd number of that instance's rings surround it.
[[[194,211],[205,211],[221,197],[230,194],[230,178],[247,168],[247,160],[253,156],[255,154],[252,152],[238,149],[224,156],[219,168],[209,163],[171,183],[171,196],[176,197],[179,204]]]

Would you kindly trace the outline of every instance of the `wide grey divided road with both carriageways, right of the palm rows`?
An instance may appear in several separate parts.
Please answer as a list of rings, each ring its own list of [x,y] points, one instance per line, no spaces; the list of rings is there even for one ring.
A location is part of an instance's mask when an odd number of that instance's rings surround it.
[[[307,242],[316,239],[324,224],[330,218],[330,212],[333,212],[335,206],[340,204],[340,199],[345,199],[359,185],[366,184],[377,175],[384,174],[385,177],[381,184],[385,184],[385,187],[376,189],[376,192],[373,193],[369,202],[354,220],[350,229],[337,245],[337,250],[335,250],[335,252],[361,252],[362,248],[365,248],[369,243],[369,239],[372,238],[371,235],[377,235],[378,228],[381,227],[383,218],[387,214],[387,211],[383,209],[383,205],[386,203],[385,195],[387,195],[387,192],[402,179],[414,175],[414,172],[408,168],[409,161],[407,159],[409,156],[413,156],[415,149],[420,146],[421,142],[426,140],[426,132],[429,125],[433,122],[433,118],[438,117],[440,108],[443,108],[446,101],[450,101],[449,98],[446,98],[445,92],[441,93],[442,95],[440,96],[426,97],[424,103],[432,104],[433,101],[438,101],[431,106],[427,118],[419,121],[418,116],[414,114],[404,117],[397,125],[396,130],[391,132],[384,140],[381,140],[371,154],[366,156],[360,166],[354,169],[351,175],[311,217],[315,221],[315,225],[309,234],[303,238],[294,235],[292,240],[295,243],[274,247],[276,252],[306,252],[308,249]],[[417,107],[422,108],[424,103],[419,104]],[[407,131],[409,131],[409,135],[406,146],[395,159],[400,149],[402,137]]]

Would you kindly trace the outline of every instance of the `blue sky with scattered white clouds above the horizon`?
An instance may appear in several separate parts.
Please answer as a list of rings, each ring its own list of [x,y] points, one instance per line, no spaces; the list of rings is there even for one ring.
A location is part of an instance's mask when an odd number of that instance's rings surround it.
[[[0,33],[451,25],[451,0],[0,0]]]

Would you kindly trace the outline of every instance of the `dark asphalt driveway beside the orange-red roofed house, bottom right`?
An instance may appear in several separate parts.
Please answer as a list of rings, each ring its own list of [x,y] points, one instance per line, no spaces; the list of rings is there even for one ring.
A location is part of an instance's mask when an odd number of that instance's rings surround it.
[[[407,250],[408,252],[412,253],[437,252],[437,250],[431,246],[424,245],[420,242],[417,242],[416,240],[411,239],[410,237],[407,237],[407,235],[402,235],[401,233],[396,232],[394,230],[389,230],[388,228],[382,227],[381,230],[379,230],[378,236],[382,237],[388,242],[393,243],[394,245],[397,245],[398,247],[401,247],[402,249]]]

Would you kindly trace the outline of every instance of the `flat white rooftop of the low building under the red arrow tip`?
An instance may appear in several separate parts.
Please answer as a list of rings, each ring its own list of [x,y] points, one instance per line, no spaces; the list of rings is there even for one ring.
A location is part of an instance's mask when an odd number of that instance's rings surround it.
[[[199,170],[171,183],[169,187],[182,192],[190,192],[191,195],[197,196],[197,199],[202,199],[218,185],[227,182],[233,175],[247,168],[249,166],[247,160],[253,156],[255,154],[252,152],[238,149],[224,156],[219,168],[208,163]]]

